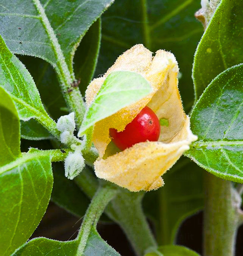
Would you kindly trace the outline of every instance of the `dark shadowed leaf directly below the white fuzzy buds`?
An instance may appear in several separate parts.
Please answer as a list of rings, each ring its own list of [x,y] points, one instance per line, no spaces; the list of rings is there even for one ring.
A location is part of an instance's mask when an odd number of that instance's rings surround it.
[[[64,176],[64,168],[60,163],[53,164],[53,177],[51,200],[72,214],[83,217],[90,200],[74,181]]]

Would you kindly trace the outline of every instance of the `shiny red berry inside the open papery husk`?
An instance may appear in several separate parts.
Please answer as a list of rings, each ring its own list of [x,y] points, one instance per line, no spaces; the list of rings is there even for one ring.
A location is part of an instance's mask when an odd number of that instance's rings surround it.
[[[116,146],[124,150],[132,145],[149,141],[158,141],[160,135],[160,123],[156,114],[149,107],[145,107],[141,112],[127,124],[122,132],[110,129],[110,136]]]

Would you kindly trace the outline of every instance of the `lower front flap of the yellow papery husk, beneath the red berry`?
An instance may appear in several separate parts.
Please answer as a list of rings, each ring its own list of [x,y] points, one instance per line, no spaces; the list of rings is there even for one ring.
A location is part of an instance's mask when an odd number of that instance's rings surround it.
[[[160,176],[169,170],[183,152],[189,149],[188,145],[197,139],[190,131],[188,116],[178,136],[177,142],[141,142],[106,159],[97,160],[94,163],[95,174],[133,192],[157,189],[164,185]]]

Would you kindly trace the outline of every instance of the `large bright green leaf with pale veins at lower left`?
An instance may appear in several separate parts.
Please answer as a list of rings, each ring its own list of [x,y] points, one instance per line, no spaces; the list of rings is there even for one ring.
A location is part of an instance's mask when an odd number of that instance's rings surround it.
[[[9,255],[31,236],[47,208],[53,176],[50,155],[23,153],[0,167],[0,255]]]

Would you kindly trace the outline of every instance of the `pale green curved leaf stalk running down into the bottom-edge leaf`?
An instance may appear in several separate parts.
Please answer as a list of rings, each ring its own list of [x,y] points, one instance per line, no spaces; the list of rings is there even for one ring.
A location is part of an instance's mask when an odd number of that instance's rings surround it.
[[[104,208],[109,203],[109,201],[111,201],[111,199],[114,198],[116,194],[116,189],[106,186],[99,188],[93,196],[92,201],[88,209],[86,210],[86,214],[84,216],[81,229],[78,233],[79,245],[76,252],[76,256],[83,255],[89,237],[90,229],[92,228],[92,226],[97,225],[97,222]]]

